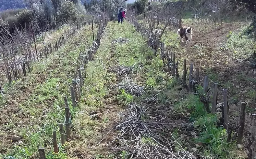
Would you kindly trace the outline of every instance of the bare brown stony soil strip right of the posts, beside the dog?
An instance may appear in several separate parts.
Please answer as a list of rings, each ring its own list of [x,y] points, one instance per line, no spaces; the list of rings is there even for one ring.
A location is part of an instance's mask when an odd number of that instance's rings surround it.
[[[184,24],[191,26],[196,25]],[[239,122],[241,101],[248,102],[246,109],[247,135],[251,128],[249,113],[255,113],[255,97],[249,97],[248,92],[254,92],[255,74],[248,66],[245,58],[235,56],[234,51],[225,46],[228,36],[232,32],[240,32],[244,24],[224,24],[223,26],[205,25],[193,30],[192,43],[181,43],[184,51],[178,55],[180,59],[187,59],[187,63],[194,63],[194,68],[200,68],[200,76],[210,78],[210,86],[219,81],[218,103],[222,102],[222,89],[228,90],[228,102],[230,104],[229,121]],[[242,59],[243,58],[243,59]]]

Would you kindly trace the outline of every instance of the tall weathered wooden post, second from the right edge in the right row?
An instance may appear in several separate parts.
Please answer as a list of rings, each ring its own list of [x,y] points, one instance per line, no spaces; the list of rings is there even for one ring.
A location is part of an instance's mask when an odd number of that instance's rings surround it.
[[[239,129],[238,129],[238,137],[237,137],[237,143],[241,145],[243,144],[242,140],[243,140],[243,134],[244,134],[245,107],[246,107],[246,102],[241,102]]]

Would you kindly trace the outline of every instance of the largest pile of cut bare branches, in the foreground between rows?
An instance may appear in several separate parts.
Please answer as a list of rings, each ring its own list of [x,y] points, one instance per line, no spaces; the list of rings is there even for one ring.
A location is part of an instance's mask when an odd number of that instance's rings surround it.
[[[138,106],[133,103],[129,109],[121,113],[125,118],[121,119],[120,124],[113,128],[119,130],[119,133],[110,142],[118,142],[118,147],[111,147],[116,154],[123,152],[122,156],[118,158],[196,159],[192,153],[185,151],[177,141],[175,144],[169,142],[170,138],[173,138],[170,133],[171,129],[186,123],[173,123],[163,117],[156,117],[156,121],[146,121],[145,117],[150,114],[148,113],[149,108],[150,106]],[[163,133],[165,136],[162,135]],[[174,145],[182,151],[174,152]]]

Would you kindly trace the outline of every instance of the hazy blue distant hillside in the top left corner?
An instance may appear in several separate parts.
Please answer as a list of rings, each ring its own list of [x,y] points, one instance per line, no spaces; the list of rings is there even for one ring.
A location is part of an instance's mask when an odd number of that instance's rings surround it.
[[[0,11],[24,8],[22,0],[0,0]]]

